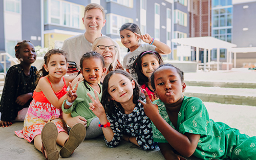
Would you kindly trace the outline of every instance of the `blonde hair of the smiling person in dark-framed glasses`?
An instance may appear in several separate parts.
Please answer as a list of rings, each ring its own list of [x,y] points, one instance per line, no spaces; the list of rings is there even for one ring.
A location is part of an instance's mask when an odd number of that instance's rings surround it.
[[[100,41],[101,39],[110,39],[111,42],[113,43],[113,45],[116,46],[116,50],[115,50],[116,56],[115,56],[114,61],[113,61],[113,63],[112,63],[112,66],[113,66],[113,68],[115,69],[115,67],[116,67],[116,65],[117,65],[117,59],[118,59],[118,60],[121,59],[121,56],[120,56],[120,47],[119,47],[119,45],[117,44],[117,42],[114,41],[112,38],[110,38],[110,37],[108,37],[108,36],[100,36],[100,37],[97,37],[97,38],[94,40],[94,42],[93,42],[93,45],[92,45],[92,50],[93,50],[93,51],[95,51],[95,50],[97,49],[97,46],[100,45],[100,44],[99,44],[99,41]],[[120,60],[119,60],[119,61],[120,61]],[[107,68],[107,69],[108,69],[108,68]]]

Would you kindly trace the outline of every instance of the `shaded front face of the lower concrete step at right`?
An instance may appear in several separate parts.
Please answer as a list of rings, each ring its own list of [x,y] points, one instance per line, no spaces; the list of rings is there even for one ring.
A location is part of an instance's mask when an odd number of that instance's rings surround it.
[[[223,95],[184,92],[186,96],[199,97],[204,102],[256,106],[256,96]]]

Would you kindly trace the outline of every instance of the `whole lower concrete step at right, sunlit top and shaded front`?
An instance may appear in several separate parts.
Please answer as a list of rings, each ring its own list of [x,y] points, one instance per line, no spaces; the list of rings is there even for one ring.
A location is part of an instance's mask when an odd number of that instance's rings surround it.
[[[204,102],[256,106],[256,89],[186,86],[184,95]]]

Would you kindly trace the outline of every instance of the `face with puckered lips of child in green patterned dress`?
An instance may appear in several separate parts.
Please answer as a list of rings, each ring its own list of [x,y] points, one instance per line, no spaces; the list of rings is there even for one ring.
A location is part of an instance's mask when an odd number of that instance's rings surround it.
[[[156,94],[165,104],[174,104],[182,98],[186,85],[174,67],[163,66],[155,73]]]

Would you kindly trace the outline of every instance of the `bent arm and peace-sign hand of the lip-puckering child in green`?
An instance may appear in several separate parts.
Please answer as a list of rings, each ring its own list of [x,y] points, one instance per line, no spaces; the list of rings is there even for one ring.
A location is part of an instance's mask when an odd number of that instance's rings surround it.
[[[182,134],[176,131],[162,118],[158,112],[158,106],[151,103],[145,90],[144,94],[146,96],[146,103],[140,100],[138,101],[142,103],[146,115],[175,150],[186,157],[191,156],[197,148],[200,135],[191,133]]]

